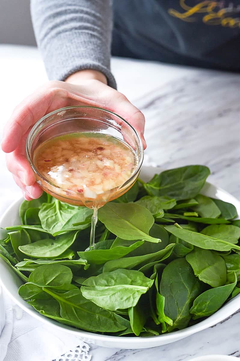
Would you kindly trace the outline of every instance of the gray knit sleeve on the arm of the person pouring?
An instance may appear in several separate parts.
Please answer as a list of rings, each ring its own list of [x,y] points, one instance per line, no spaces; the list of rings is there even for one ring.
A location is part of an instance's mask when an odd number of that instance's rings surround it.
[[[31,0],[31,14],[49,79],[95,69],[116,88],[110,71],[111,0]]]

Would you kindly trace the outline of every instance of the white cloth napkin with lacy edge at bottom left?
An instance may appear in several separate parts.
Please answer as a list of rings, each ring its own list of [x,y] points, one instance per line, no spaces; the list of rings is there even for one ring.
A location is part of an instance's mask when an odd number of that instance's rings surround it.
[[[0,361],[90,361],[88,344],[65,331],[56,332],[4,296],[6,323],[0,335]]]

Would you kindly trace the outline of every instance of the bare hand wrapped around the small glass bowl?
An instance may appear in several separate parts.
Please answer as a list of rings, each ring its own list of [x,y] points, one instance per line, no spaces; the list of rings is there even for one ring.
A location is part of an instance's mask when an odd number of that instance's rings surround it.
[[[126,119],[143,137],[143,114],[118,91],[106,85],[106,77],[99,71],[82,70],[72,74],[66,82],[50,81],[22,101],[4,128],[1,147],[6,155],[8,170],[13,174],[26,200],[40,197],[42,190],[26,159],[26,139],[31,127],[45,114],[70,105],[95,105],[111,110]]]

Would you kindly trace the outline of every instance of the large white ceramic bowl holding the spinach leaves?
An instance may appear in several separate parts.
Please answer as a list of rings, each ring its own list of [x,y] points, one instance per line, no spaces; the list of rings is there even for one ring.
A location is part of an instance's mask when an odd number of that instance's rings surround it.
[[[140,177],[147,181],[151,179],[155,173],[160,173],[162,171],[160,168],[153,167],[143,167],[141,170]],[[238,216],[240,217],[240,202],[225,192],[224,190],[213,186],[210,183],[206,183],[202,193],[206,196],[222,199],[223,201],[232,203],[237,209]],[[4,213],[3,217],[0,219],[0,227],[7,227],[20,224],[20,219],[18,216],[19,205],[23,199],[19,199],[14,202]],[[17,275],[9,269],[9,266],[0,258],[0,284],[3,286],[4,290],[8,295],[17,303],[23,310],[31,314],[33,317],[44,322],[46,325],[55,327],[55,329],[65,329],[67,332],[70,332],[72,335],[79,337],[81,340],[96,344],[103,347],[112,347],[112,348],[123,348],[123,349],[137,349],[137,348],[150,348],[160,345],[165,345],[177,340],[181,340],[189,335],[199,332],[201,330],[207,329],[210,326],[215,325],[216,323],[223,321],[223,319],[231,316],[240,308],[240,294],[235,298],[228,301],[221,309],[215,312],[212,316],[206,318],[204,321],[197,323],[194,326],[187,327],[184,330],[174,331],[169,334],[151,336],[151,337],[117,337],[117,336],[106,336],[98,335],[91,332],[77,330],[74,327],[63,325],[53,319],[44,317],[39,314],[22,300],[18,295],[18,288],[21,286],[22,282],[17,277]]]

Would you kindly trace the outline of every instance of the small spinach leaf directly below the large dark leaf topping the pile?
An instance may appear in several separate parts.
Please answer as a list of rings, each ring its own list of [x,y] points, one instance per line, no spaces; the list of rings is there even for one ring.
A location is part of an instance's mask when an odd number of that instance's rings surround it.
[[[140,198],[137,204],[147,208],[152,214],[158,214],[163,212],[163,209],[171,209],[176,204],[175,199],[171,199],[167,196],[151,197],[145,196]]]

